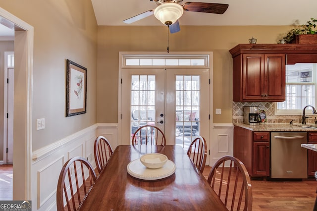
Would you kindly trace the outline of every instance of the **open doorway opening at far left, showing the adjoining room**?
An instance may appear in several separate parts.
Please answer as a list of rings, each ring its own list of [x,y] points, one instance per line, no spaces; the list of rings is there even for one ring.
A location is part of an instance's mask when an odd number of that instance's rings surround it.
[[[0,25],[0,200],[12,200],[14,29]]]

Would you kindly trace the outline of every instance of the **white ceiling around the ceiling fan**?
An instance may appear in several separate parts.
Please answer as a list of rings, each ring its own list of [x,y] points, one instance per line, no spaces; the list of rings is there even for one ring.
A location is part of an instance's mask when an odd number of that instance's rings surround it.
[[[184,12],[180,25],[297,25],[317,18],[317,0],[183,0],[227,3],[224,14]],[[92,0],[98,25],[161,25],[154,15],[132,24],[122,21],[157,7],[150,0]]]

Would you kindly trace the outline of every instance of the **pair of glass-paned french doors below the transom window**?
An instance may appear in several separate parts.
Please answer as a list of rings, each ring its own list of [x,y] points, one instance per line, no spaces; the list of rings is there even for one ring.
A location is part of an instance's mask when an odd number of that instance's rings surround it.
[[[121,144],[142,125],[156,125],[167,145],[187,150],[209,140],[209,69],[122,69]]]

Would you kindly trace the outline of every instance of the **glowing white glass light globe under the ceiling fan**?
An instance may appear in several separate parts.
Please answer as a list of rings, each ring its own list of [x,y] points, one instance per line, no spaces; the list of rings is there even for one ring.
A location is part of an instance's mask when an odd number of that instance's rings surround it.
[[[184,9],[178,3],[163,3],[154,10],[154,16],[162,23],[165,24],[172,22],[175,23],[178,18],[182,16]]]

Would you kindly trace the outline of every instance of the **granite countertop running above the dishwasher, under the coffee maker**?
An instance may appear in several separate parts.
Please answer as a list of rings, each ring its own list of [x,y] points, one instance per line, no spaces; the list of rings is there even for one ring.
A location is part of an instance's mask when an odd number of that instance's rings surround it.
[[[242,127],[252,131],[316,131],[315,124],[286,124],[286,123],[265,123],[260,125],[248,125],[243,123],[233,123],[234,126]],[[303,126],[303,127],[301,127]],[[316,128],[310,128],[316,127]]]

